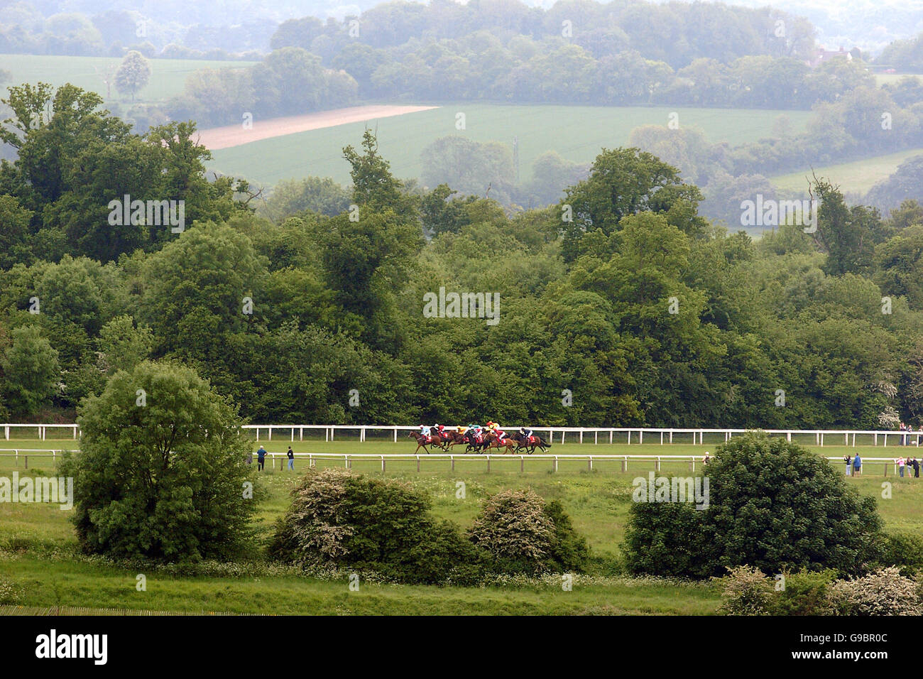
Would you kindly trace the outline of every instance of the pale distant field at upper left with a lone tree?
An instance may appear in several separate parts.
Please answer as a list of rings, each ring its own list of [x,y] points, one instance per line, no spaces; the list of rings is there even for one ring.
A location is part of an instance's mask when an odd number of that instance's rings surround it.
[[[122,60],[115,56],[53,56],[53,55],[0,55],[0,68],[12,74],[6,85],[24,82],[50,82],[54,86],[69,82],[79,88],[94,91],[106,98],[102,74],[107,67],[118,67]],[[163,102],[183,91],[186,76],[199,68],[246,67],[249,61],[208,61],[199,59],[148,59],[150,82],[138,91],[136,103]],[[6,90],[4,89],[4,92]],[[131,103],[130,96],[119,94],[112,88],[107,103]]]

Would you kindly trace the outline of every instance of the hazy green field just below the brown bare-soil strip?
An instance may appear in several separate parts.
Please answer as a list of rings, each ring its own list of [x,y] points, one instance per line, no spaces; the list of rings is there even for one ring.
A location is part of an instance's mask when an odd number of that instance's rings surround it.
[[[426,102],[420,102],[426,103]],[[679,124],[700,127],[710,141],[739,144],[768,136],[778,115],[786,115],[800,131],[809,111],[761,111],[676,106],[514,106],[459,103],[414,114],[366,123],[300,132],[264,139],[214,152],[210,169],[271,185],[281,179],[330,176],[349,182],[349,164],[342,148],[358,146],[363,130],[378,128],[379,152],[399,177],[418,177],[423,169],[420,152],[440,137],[462,135],[475,141],[512,144],[519,139],[521,180],[532,176],[532,164],[542,153],[557,151],[571,161],[589,163],[605,148],[628,142],[629,134],[642,125],[665,126],[671,112]],[[457,113],[465,115],[465,129],[455,128]]]

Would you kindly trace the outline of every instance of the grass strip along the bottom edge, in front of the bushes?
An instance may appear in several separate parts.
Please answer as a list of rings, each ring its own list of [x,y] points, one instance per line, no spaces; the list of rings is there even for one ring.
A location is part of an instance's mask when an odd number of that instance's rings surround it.
[[[0,576],[19,588],[20,606],[86,606],[144,611],[237,612],[330,615],[569,615],[714,612],[720,597],[710,584],[611,578],[570,591],[541,587],[436,588],[360,582],[351,591],[343,581],[300,576],[147,577],[114,566],[15,555],[0,559]],[[0,615],[5,611],[0,606]]]

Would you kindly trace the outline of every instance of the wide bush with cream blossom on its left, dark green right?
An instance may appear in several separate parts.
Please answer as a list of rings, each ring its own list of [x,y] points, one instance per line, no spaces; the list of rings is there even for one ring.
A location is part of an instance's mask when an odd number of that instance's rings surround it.
[[[309,470],[270,544],[274,559],[305,568],[349,567],[408,584],[473,584],[480,554],[426,495],[344,469]]]

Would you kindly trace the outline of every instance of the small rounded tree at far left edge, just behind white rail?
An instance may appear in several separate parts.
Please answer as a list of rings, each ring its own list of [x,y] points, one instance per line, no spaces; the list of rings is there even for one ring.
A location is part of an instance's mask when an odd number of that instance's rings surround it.
[[[61,378],[58,353],[34,325],[10,334],[13,344],[0,362],[6,378],[6,401],[14,413],[32,417],[48,403]]]

